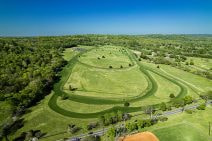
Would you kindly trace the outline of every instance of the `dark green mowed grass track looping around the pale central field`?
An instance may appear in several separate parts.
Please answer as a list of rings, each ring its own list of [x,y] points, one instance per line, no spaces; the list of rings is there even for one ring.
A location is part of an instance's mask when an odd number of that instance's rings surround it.
[[[128,54],[130,58],[132,58],[137,65],[139,65],[139,69],[140,71],[145,74],[145,77],[147,78],[147,82],[148,82],[148,87],[147,89],[143,92],[145,93],[143,95],[143,93],[139,96],[136,96],[132,99],[129,100],[129,102],[135,102],[141,99],[144,99],[146,97],[149,97],[151,95],[153,95],[156,91],[157,91],[157,83],[156,81],[153,79],[153,77],[148,73],[148,71],[152,71],[153,73],[156,73],[158,75],[160,75],[161,77],[166,78],[167,80],[175,83],[176,85],[178,85],[181,89],[180,93],[178,94],[177,98],[182,97],[183,95],[185,95],[187,93],[187,89],[181,85],[180,83],[178,83],[175,79],[169,78],[159,72],[154,71],[153,69],[143,66],[141,65],[136,58],[133,57],[132,54]],[[78,56],[78,55],[77,55]],[[51,99],[49,100],[49,107],[51,109],[53,109],[54,111],[64,115],[64,116],[69,116],[69,117],[74,117],[74,118],[96,118],[99,115],[102,115],[104,113],[107,112],[113,112],[113,111],[123,111],[123,112],[136,112],[141,110],[141,107],[121,107],[121,106],[114,106],[113,108],[109,108],[106,110],[103,110],[101,112],[95,112],[95,113],[77,113],[77,112],[72,112],[72,111],[68,111],[65,109],[62,109],[61,107],[59,107],[57,105],[57,98],[62,95],[62,94],[67,94],[64,91],[62,91],[63,85],[66,83],[68,77],[71,74],[71,70],[73,69],[73,66],[75,65],[76,61],[77,61],[77,56],[75,56],[73,59],[71,59],[71,61],[69,61],[69,64],[67,65],[66,68],[68,69],[64,69],[64,72],[62,73],[62,79],[63,81],[60,81],[59,83],[57,83],[55,85],[55,94],[51,97]],[[147,71],[148,70],[148,71]],[[89,96],[79,96],[79,95],[74,95],[71,94],[69,96],[70,101],[76,101],[76,102],[81,102],[81,103],[86,103],[86,104],[120,104],[120,103],[124,103],[124,101],[118,101],[118,100],[110,100],[110,99],[101,99],[98,97],[89,97]],[[155,104],[154,106],[158,106],[158,104]]]

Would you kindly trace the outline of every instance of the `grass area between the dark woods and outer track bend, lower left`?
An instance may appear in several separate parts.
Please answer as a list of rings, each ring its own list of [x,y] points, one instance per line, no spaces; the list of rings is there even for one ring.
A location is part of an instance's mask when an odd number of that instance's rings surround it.
[[[29,112],[26,113],[22,118],[24,119],[24,127],[19,129],[10,139],[14,139],[21,134],[21,132],[26,132],[31,129],[41,130],[43,133],[46,133],[44,138],[41,138],[41,141],[54,141],[64,137],[72,136],[70,133],[67,133],[68,124],[75,124],[82,128],[79,133],[86,131],[86,126],[90,122],[94,122],[97,119],[76,119],[63,116],[54,112],[48,106],[48,101],[51,98],[53,93],[46,96],[38,105],[29,109]]]

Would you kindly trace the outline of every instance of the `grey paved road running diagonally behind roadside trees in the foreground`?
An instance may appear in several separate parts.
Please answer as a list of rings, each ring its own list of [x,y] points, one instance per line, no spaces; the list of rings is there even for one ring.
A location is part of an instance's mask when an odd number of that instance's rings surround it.
[[[209,105],[209,104],[212,104],[212,100],[208,101],[206,103],[206,106]],[[199,106],[199,104],[187,105],[184,108],[180,107],[180,108],[177,108],[177,109],[174,109],[174,110],[171,110],[171,111],[163,112],[161,115],[152,116],[152,118],[156,118],[156,117],[160,117],[160,116],[171,116],[171,115],[179,114],[179,113],[182,113],[184,110],[196,109],[198,106]],[[139,116],[139,115],[135,115],[135,116]],[[119,127],[123,126],[123,124],[122,125],[116,125],[116,127],[118,127],[118,126]],[[102,135],[104,135],[107,132],[107,130],[108,130],[108,128],[104,128],[104,129],[101,129],[101,130],[98,130],[98,131],[94,131],[94,132],[92,132],[92,135],[102,136]],[[87,136],[90,136],[90,134],[89,133],[80,134],[78,136],[71,137],[70,139],[68,139],[66,141],[79,141],[77,139],[82,139],[82,138],[85,138]]]

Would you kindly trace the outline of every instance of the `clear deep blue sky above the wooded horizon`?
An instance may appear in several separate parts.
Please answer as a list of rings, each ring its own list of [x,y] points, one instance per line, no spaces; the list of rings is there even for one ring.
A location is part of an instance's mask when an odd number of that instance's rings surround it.
[[[212,0],[0,0],[0,36],[212,34]]]

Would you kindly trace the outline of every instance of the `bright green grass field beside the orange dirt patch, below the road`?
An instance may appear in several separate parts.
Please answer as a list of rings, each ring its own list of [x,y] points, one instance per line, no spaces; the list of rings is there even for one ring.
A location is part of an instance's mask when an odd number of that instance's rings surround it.
[[[171,116],[167,122],[158,123],[145,130],[152,131],[160,141],[210,141],[209,122],[212,121],[212,107],[193,114],[182,113]]]

